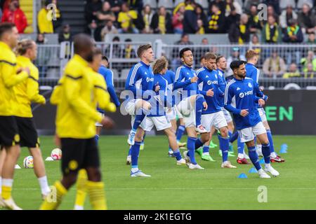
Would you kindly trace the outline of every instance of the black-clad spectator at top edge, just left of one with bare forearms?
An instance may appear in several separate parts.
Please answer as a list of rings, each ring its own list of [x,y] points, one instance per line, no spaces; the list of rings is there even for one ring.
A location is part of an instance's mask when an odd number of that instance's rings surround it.
[[[91,33],[91,29],[96,29],[96,14],[98,10],[102,8],[102,1],[100,0],[88,0],[84,7],[84,17],[87,23],[87,32]]]

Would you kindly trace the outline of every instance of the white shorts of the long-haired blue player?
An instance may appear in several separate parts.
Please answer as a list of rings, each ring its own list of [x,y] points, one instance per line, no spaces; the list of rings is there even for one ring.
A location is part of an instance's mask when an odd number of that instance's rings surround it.
[[[135,120],[135,116],[132,116],[131,118],[131,125],[133,126]],[[146,116],[142,123],[140,123],[140,127],[145,132],[150,132],[152,130],[152,127],[156,127],[157,131],[162,131],[167,128],[171,127],[171,123],[166,116],[159,116],[159,117],[148,117]]]

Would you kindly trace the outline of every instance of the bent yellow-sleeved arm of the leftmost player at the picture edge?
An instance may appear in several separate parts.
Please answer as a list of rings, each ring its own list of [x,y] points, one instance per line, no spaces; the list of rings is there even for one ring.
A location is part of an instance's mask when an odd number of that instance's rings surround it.
[[[1,74],[2,79],[4,80],[4,85],[6,87],[13,87],[23,80],[27,79],[29,73],[25,70],[22,70],[20,73],[15,73],[15,65],[14,63],[1,60]]]

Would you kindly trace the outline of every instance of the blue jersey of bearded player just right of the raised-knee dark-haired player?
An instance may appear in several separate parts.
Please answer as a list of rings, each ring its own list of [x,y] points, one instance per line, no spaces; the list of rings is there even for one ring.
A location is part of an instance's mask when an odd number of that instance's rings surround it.
[[[199,92],[204,96],[207,109],[202,111],[202,114],[216,113],[221,111],[218,103],[219,95],[223,92],[219,88],[218,72],[216,70],[209,70],[206,67],[197,70],[197,77],[199,78]],[[213,89],[213,97],[206,96],[207,90]]]

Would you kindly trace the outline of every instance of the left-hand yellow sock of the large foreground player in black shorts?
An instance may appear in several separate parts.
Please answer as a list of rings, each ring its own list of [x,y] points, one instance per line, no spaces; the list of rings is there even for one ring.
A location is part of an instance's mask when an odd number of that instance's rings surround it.
[[[67,190],[60,181],[56,181],[51,193],[46,197],[39,210],[55,210],[62,201],[62,196],[67,193]]]

